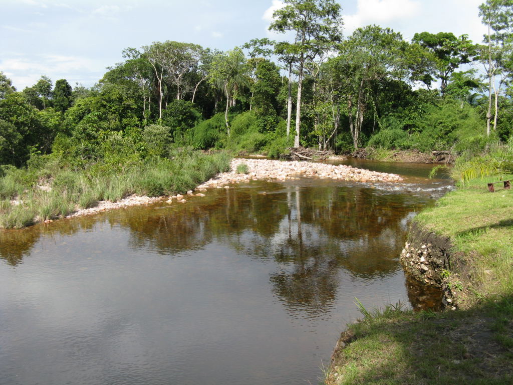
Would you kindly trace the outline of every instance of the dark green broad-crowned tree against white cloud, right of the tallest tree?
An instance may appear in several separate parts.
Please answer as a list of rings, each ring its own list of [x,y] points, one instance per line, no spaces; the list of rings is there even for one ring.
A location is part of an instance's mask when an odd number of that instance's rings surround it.
[[[451,73],[460,65],[472,62],[477,55],[477,47],[468,40],[468,35],[456,37],[451,32],[421,32],[413,36],[413,43],[419,44],[432,54],[432,74],[441,80],[442,94],[445,93]]]

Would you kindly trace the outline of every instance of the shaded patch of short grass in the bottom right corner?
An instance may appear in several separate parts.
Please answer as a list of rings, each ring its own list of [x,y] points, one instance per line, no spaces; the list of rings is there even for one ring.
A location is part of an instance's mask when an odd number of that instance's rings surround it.
[[[337,352],[327,382],[510,384],[511,340],[497,338],[493,315],[505,314],[511,301],[509,297],[499,304],[486,302],[474,309],[445,313],[388,308],[366,317],[349,328],[349,343]]]

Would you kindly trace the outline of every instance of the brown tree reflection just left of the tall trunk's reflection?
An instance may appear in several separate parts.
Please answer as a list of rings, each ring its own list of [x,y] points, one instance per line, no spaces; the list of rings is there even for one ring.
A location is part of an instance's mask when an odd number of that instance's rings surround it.
[[[150,247],[167,255],[204,247],[214,238],[232,243],[247,229],[261,237],[273,235],[286,202],[248,190],[213,190],[210,196],[146,211],[144,216],[129,210],[119,220],[131,230],[134,248]]]

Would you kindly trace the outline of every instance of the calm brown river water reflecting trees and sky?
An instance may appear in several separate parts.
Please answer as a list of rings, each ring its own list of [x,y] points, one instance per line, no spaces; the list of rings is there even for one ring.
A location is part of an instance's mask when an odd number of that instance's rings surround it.
[[[365,306],[409,306],[408,222],[449,184],[302,178],[0,233],[1,384],[318,383]]]

